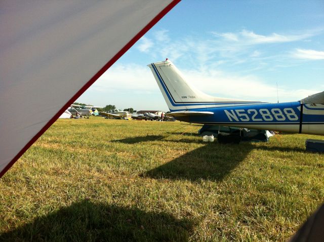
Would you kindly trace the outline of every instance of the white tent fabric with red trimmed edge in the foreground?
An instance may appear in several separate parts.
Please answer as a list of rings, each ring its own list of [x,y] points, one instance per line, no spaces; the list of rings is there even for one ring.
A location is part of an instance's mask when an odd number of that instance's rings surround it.
[[[1,1],[0,177],[178,2]]]

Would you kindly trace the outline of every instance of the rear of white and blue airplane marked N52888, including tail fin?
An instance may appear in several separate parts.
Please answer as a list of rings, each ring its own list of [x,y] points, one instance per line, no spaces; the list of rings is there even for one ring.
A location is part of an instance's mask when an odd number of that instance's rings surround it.
[[[219,98],[195,89],[170,61],[148,65],[171,113],[188,123],[324,135],[324,92],[296,102]]]

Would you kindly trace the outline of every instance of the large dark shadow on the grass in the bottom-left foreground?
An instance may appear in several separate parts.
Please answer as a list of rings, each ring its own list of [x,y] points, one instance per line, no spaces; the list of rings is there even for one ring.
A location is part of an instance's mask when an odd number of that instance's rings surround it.
[[[167,213],[84,200],[0,234],[1,241],[187,241],[193,226]]]

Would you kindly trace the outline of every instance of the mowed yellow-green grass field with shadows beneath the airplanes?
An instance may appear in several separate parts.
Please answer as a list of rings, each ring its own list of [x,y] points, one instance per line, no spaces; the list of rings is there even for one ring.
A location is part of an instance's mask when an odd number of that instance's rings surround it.
[[[0,179],[0,240],[283,241],[324,201],[305,151],[323,137],[222,145],[186,125],[58,120]]]

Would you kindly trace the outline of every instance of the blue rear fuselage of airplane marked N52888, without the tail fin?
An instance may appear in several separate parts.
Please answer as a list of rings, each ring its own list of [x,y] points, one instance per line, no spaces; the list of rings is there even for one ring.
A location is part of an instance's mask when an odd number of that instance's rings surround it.
[[[190,109],[190,111],[210,111],[214,114],[177,117],[177,119],[197,124],[324,135],[323,104],[301,104],[297,101]]]

